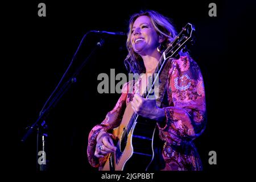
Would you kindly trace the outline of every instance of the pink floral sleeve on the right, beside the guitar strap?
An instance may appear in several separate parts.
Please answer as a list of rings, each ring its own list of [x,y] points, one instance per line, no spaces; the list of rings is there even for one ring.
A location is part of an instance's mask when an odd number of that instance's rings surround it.
[[[188,56],[173,60],[167,83],[168,107],[163,107],[166,123],[161,127],[166,137],[192,140],[206,125],[204,81],[199,66]]]

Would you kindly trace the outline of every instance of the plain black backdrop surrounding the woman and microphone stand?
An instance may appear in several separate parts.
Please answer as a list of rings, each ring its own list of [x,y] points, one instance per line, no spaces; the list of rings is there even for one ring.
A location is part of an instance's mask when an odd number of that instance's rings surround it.
[[[38,4],[46,3],[46,17],[38,16]],[[209,3],[217,5],[217,17],[208,15]],[[25,128],[36,121],[44,102],[67,69],[82,36],[89,30],[127,32],[130,15],[139,10],[152,9],[170,17],[177,32],[187,23],[195,25],[196,43],[191,48],[204,77],[207,96],[207,129],[195,140],[203,161],[204,171],[218,172],[231,169],[233,95],[239,71],[234,68],[245,59],[241,53],[243,40],[250,39],[251,24],[255,22],[255,2],[243,1],[35,1],[13,2],[8,8],[6,47],[9,69],[5,88],[7,94],[7,119],[9,127],[5,137],[7,166],[13,171],[36,171],[36,135],[25,143],[20,139]],[[248,31],[250,30],[250,31]],[[46,119],[49,126],[49,169],[55,171],[97,171],[90,167],[86,146],[90,129],[100,123],[112,110],[119,94],[99,94],[99,73],[110,75],[126,73],[123,36],[89,35],[80,49],[72,70],[78,67],[95,44],[105,39],[104,47],[89,60],[67,94],[61,98]],[[240,67],[242,68],[242,67]],[[235,71],[231,73],[230,71]],[[117,82],[116,82],[117,83]],[[239,100],[239,98],[238,98]],[[14,131],[14,132],[13,132]],[[231,134],[230,134],[231,133]],[[5,138],[4,138],[5,140]],[[5,140],[6,141],[6,140]],[[9,142],[11,141],[11,142]],[[209,165],[208,152],[217,152],[217,165]]]

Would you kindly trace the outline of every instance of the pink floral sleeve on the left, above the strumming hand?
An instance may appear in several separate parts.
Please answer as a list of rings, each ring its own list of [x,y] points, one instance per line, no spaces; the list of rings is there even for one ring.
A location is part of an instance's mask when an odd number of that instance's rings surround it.
[[[100,159],[94,156],[94,152],[97,144],[96,139],[100,131],[111,132],[112,129],[114,129],[115,127],[118,127],[119,124],[121,123],[122,116],[126,108],[126,98],[128,93],[127,90],[128,90],[127,84],[123,85],[122,94],[119,97],[117,104],[114,106],[114,109],[112,111],[109,111],[109,113],[106,114],[104,121],[102,121],[99,125],[94,126],[89,133],[87,156],[88,156],[90,165],[93,167],[102,166],[102,164],[106,162],[107,156],[105,158],[100,158]],[[110,134],[110,137],[115,139],[114,135],[112,134]]]

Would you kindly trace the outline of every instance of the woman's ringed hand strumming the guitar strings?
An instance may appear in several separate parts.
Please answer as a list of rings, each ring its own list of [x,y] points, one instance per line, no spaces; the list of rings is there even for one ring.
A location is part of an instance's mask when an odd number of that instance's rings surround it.
[[[114,146],[113,140],[108,133],[101,131],[97,137],[96,150],[94,155],[97,158],[103,158],[111,152],[117,150],[117,147]]]

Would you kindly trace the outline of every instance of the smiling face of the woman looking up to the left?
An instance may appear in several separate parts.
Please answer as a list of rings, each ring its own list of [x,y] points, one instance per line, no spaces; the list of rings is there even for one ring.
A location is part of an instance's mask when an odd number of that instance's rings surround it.
[[[131,46],[139,55],[150,55],[159,46],[159,35],[148,16],[139,16],[131,29]]]

